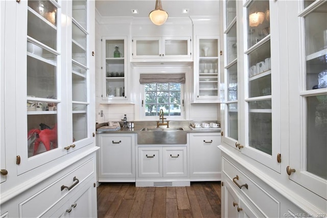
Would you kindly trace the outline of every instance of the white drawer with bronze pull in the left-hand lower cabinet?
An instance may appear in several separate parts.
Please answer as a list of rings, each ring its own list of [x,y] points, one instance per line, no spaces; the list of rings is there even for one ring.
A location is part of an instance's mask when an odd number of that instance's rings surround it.
[[[94,173],[94,169],[94,159],[90,159],[48,187],[32,195],[29,199],[21,202],[19,204],[20,217],[38,217],[71,190],[79,187],[86,178]],[[75,181],[73,181],[73,178],[75,178]]]

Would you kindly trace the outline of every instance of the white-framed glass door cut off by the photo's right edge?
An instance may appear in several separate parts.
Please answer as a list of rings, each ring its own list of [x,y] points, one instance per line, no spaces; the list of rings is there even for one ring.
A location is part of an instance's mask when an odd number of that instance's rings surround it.
[[[288,2],[287,8],[294,11],[287,17],[289,167],[295,169],[289,179],[327,199],[327,2]]]

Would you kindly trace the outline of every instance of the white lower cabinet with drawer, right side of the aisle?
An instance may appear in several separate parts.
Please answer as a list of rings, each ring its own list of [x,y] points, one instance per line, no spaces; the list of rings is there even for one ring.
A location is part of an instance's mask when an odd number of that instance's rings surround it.
[[[237,162],[222,157],[222,171],[222,217],[297,217],[296,214],[306,214],[259,178],[243,171]]]

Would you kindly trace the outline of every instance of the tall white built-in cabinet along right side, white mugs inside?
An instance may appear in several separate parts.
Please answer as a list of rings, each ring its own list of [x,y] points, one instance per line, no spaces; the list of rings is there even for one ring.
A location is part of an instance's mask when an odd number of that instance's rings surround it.
[[[321,216],[327,211],[327,85],[321,73],[327,2],[223,1],[221,6],[223,173],[256,214],[255,207],[269,217]],[[229,55],[229,37],[237,38],[236,58]]]

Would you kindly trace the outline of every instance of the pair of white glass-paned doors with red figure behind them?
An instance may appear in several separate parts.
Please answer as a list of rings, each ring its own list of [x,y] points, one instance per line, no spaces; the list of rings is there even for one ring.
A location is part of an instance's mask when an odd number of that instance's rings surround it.
[[[17,20],[17,35],[26,36],[16,45],[26,48],[17,53],[18,174],[92,143],[87,6],[87,1],[17,6],[27,18],[26,24]],[[66,14],[72,21],[65,26]],[[72,40],[62,40],[66,35]]]

